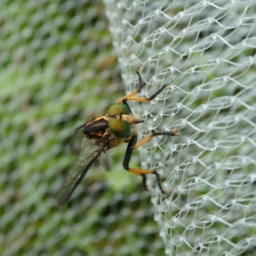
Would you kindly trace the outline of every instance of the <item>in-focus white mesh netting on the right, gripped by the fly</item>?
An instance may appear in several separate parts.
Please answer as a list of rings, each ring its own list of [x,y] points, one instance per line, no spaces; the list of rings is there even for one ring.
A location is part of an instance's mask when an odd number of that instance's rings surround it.
[[[255,255],[255,1],[105,3],[127,90],[139,66],[146,96],[171,84],[137,109],[144,136],[179,129],[140,150],[166,254]]]

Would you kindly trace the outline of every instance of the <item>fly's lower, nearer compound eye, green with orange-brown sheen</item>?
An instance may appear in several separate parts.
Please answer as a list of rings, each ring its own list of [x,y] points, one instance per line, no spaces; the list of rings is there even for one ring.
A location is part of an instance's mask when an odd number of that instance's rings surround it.
[[[111,119],[108,121],[109,130],[117,137],[117,138],[125,138],[129,135],[131,131],[131,125],[122,119]]]

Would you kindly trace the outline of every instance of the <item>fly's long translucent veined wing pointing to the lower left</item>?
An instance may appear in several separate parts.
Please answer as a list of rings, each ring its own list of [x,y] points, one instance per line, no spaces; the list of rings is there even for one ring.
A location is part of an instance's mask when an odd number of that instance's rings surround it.
[[[81,143],[81,153],[68,170],[58,194],[58,205],[65,204],[70,198],[77,185],[83,180],[93,162],[100,156],[102,150],[93,145],[86,137]]]

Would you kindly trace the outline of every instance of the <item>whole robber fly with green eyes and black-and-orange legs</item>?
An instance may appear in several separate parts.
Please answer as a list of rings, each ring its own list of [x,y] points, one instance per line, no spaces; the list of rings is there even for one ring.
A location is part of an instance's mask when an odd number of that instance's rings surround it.
[[[164,88],[167,88],[170,85],[164,84],[151,97],[134,97],[134,95],[140,93],[142,89],[140,70],[137,70],[136,73],[139,78],[139,88],[137,90],[117,100],[116,103],[108,109],[106,114],[92,118],[86,122],[86,124],[81,125],[75,130],[74,135],[72,136],[72,152],[79,156],[68,170],[68,173],[61,185],[60,192],[58,194],[59,205],[65,204],[68,201],[77,185],[81,180],[83,180],[84,176],[91,168],[92,164],[99,159],[100,154],[105,153],[107,150],[117,147],[124,142],[128,143],[123,162],[125,170],[141,175],[143,187],[145,189],[147,189],[146,174],[154,174],[156,176],[157,186],[161,193],[164,195],[168,193],[168,191],[163,189],[159,173],[156,170],[143,170],[129,167],[132,150],[135,148],[141,147],[154,136],[179,135],[176,128],[173,129],[173,131],[157,131],[148,134],[146,138],[137,143],[138,133],[136,124],[140,124],[144,122],[144,120],[132,115],[132,111],[127,104],[127,100],[150,102],[150,100],[155,99],[157,95],[164,90]]]

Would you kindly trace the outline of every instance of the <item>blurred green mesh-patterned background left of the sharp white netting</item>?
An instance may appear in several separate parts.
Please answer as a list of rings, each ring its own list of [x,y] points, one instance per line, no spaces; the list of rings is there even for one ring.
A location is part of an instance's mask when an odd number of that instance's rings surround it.
[[[1,255],[164,255],[150,195],[122,169],[125,145],[112,172],[93,167],[56,204],[72,132],[125,93],[104,11],[101,1],[0,2]]]

